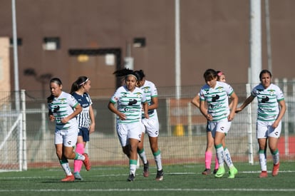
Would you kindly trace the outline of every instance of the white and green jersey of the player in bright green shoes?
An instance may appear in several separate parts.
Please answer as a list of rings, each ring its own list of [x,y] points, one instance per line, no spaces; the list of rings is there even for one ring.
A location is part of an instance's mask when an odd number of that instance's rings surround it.
[[[229,115],[229,96],[234,93],[232,86],[224,82],[217,81],[216,86],[202,86],[200,100],[207,102],[208,114],[212,115],[212,121],[219,121]]]

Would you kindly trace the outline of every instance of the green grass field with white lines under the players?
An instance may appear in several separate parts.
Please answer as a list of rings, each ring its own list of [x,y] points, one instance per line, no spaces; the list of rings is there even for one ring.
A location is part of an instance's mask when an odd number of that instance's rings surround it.
[[[234,179],[201,174],[204,165],[164,165],[165,177],[155,181],[143,177],[142,167],[134,182],[127,182],[128,167],[93,167],[82,171],[83,181],[60,182],[61,168],[30,169],[24,172],[0,172],[0,195],[295,195],[294,163],[281,163],[279,175],[259,178],[259,165],[236,163]]]

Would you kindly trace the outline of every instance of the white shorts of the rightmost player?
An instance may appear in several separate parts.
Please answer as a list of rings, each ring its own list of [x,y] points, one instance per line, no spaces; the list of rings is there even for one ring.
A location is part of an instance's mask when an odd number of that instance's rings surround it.
[[[257,129],[257,139],[261,138],[279,138],[281,135],[281,121],[277,128],[272,128],[274,121],[264,122],[257,120],[256,129]]]

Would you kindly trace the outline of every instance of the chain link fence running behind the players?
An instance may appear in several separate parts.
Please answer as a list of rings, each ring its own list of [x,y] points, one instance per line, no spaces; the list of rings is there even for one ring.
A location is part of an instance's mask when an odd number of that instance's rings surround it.
[[[294,82],[279,82],[277,84],[284,90],[287,111],[283,118],[279,150],[282,160],[292,160],[295,155],[294,134]],[[239,96],[239,103],[247,97],[245,84],[233,84],[234,91]],[[201,86],[184,86],[181,89],[182,96],[175,98],[175,88],[158,88],[159,108],[157,109],[160,121],[159,148],[162,152],[163,164],[192,164],[204,163],[206,149],[206,120],[202,117],[200,110],[190,103],[190,100],[198,93]],[[99,89],[91,89],[91,92],[99,92]],[[1,93],[4,95],[5,93]],[[55,147],[53,143],[54,123],[47,117],[46,100],[34,97],[41,94],[26,92],[25,104],[25,128],[22,133],[21,125],[15,124],[22,120],[14,110],[14,96],[6,93],[1,98],[0,118],[0,147],[1,164],[0,170],[13,170],[22,163],[28,167],[58,167]],[[112,96],[112,95],[110,95]],[[115,130],[115,115],[108,110],[108,98],[93,97],[93,108],[95,110],[95,133],[90,135],[86,152],[90,155],[93,166],[99,165],[128,165],[128,159],[123,154]],[[176,104],[177,103],[177,104]],[[250,110],[256,114],[257,105],[250,104]],[[257,163],[257,139],[255,123],[256,118],[249,110],[243,110],[235,116],[232,127],[226,138],[227,148],[230,150],[234,162]],[[254,120],[252,120],[254,118]],[[20,137],[25,136],[25,145]],[[9,138],[9,139],[7,139]],[[144,140],[145,151],[150,160],[153,159],[148,142]],[[18,146],[25,150],[20,154]],[[269,154],[270,155],[270,154]],[[24,160],[26,158],[26,160]],[[21,160],[22,159],[22,160]],[[269,159],[271,160],[271,159]],[[150,162],[151,165],[153,162]],[[155,163],[154,163],[155,164]]]

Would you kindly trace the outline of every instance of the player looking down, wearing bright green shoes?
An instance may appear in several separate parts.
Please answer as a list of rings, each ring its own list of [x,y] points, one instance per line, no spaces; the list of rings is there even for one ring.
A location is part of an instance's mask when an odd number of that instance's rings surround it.
[[[237,107],[238,97],[229,84],[217,81],[217,72],[213,69],[207,69],[204,78],[206,85],[202,86],[200,91],[200,111],[207,118],[207,129],[211,131],[214,138],[214,147],[219,163],[215,177],[222,177],[225,173],[224,160],[227,158],[224,157],[222,140],[229,131],[235,112],[235,110],[229,109],[228,97],[232,99],[232,108],[234,109]],[[228,166],[229,178],[234,178],[237,169],[232,163]]]

